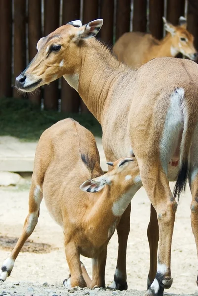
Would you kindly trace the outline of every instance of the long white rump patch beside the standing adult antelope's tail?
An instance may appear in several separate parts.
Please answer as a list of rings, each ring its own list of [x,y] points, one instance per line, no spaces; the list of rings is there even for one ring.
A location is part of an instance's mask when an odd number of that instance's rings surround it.
[[[183,128],[182,113],[183,88],[174,91],[170,106],[166,114],[163,134],[160,142],[160,158],[164,171],[168,171],[168,162],[171,159],[179,141],[179,133]]]

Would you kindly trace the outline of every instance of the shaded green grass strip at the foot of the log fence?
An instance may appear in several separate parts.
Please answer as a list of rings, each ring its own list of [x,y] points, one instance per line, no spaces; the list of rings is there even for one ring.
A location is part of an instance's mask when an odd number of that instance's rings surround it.
[[[38,140],[42,132],[52,124],[71,117],[90,130],[94,136],[102,136],[101,125],[92,114],[65,114],[57,111],[41,111],[27,99],[0,99],[0,136],[14,136],[22,141]]]

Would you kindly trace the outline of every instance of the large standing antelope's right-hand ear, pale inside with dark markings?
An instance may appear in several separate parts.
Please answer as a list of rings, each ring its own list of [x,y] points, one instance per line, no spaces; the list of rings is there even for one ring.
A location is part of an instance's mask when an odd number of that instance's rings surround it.
[[[86,25],[83,25],[79,28],[79,32],[77,33],[77,39],[89,39],[92,37],[95,37],[98,32],[100,31],[100,28],[103,25],[103,19],[98,19],[89,22]]]

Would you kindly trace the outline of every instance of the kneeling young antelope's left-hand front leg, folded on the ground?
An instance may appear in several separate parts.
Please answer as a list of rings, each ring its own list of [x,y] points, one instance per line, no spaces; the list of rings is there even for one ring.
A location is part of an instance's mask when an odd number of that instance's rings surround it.
[[[82,269],[83,264],[80,262],[80,254],[78,251],[78,246],[75,245],[74,242],[67,242],[67,238],[65,237],[65,254],[67,263],[70,269],[70,275],[67,279],[63,281],[63,284],[66,288],[71,288],[74,286],[79,286],[84,288],[87,286],[83,275]]]

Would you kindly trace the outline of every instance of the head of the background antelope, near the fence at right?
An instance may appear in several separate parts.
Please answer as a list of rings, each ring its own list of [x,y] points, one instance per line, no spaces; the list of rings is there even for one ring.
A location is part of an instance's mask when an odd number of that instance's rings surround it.
[[[172,37],[171,50],[173,56],[180,52],[193,61],[197,60],[198,53],[193,45],[194,37],[186,29],[186,19],[180,16],[178,26],[173,26],[171,23],[167,22],[165,17],[163,17],[163,22],[165,30],[169,32]]]

